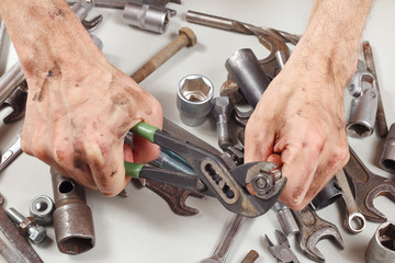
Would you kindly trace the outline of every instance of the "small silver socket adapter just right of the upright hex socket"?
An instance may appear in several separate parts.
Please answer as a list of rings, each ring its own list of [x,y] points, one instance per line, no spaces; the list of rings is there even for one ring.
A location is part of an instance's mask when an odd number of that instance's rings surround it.
[[[227,96],[217,96],[213,100],[212,115],[216,122],[218,146],[225,150],[233,145],[230,133],[230,113],[233,104]]]

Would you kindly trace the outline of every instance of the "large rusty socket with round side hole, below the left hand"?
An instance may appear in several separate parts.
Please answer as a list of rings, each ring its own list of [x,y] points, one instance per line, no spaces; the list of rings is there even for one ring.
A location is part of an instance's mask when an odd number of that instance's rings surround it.
[[[54,230],[63,253],[79,254],[94,247],[94,226],[84,188],[50,169],[55,206]]]

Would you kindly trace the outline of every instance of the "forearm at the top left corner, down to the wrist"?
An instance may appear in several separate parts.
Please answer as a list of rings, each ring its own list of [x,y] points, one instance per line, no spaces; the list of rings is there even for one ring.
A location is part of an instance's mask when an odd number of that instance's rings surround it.
[[[104,59],[65,0],[1,0],[0,13],[32,81],[54,67]]]

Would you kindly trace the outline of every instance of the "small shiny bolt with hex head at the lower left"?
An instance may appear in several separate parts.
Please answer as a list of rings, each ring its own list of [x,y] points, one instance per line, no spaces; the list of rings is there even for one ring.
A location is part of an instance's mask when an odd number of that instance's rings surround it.
[[[10,207],[5,210],[7,215],[18,225],[18,230],[22,236],[29,236],[33,243],[40,243],[46,237],[44,227],[38,226],[34,217],[24,217],[16,209]]]

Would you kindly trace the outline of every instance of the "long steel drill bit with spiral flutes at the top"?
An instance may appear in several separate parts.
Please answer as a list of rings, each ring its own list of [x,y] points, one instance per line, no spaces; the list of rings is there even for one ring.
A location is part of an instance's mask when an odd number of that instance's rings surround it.
[[[226,31],[233,31],[233,32],[247,34],[247,35],[252,35],[252,34],[268,35],[268,36],[274,37],[281,42],[292,43],[294,45],[296,45],[301,38],[300,35],[293,35],[293,34],[286,33],[284,31],[279,31],[279,30],[264,27],[264,26],[256,26],[256,25],[239,22],[236,20],[219,18],[219,16],[205,14],[205,13],[199,13],[199,12],[191,11],[191,10],[189,10],[187,12],[187,21],[190,23],[207,25],[207,26],[226,30]]]

